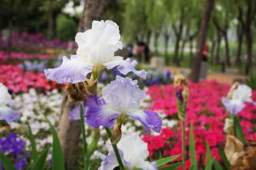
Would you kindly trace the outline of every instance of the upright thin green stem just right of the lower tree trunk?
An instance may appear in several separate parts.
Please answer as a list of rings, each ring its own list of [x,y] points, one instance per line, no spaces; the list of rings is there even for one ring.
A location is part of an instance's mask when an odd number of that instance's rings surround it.
[[[85,156],[87,153],[87,143],[86,143],[85,128],[84,128],[84,118],[82,116],[83,116],[83,105],[80,104],[80,118],[81,118],[82,144],[83,144],[83,169],[88,170],[89,160]]]

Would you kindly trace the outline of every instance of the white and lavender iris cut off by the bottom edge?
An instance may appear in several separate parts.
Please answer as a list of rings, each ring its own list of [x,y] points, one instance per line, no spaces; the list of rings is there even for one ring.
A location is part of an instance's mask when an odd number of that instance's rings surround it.
[[[157,170],[156,162],[145,161],[149,152],[147,144],[136,134],[122,135],[117,144],[121,159],[129,170],[141,168],[142,170]],[[109,154],[101,154],[101,167],[98,170],[113,170],[119,166],[113,148],[110,146]]]

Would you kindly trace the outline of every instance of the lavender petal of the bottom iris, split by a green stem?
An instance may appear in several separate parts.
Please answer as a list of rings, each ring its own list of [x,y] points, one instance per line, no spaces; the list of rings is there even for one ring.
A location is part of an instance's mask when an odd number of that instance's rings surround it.
[[[129,170],[132,170],[132,168],[130,167],[131,163],[124,160],[124,153],[120,149],[119,149],[119,154],[123,164],[128,166]],[[119,166],[114,151],[110,151],[108,156],[105,156],[105,157],[101,156],[101,158],[104,158],[104,159],[102,160],[101,167],[98,170],[113,170],[115,167]]]

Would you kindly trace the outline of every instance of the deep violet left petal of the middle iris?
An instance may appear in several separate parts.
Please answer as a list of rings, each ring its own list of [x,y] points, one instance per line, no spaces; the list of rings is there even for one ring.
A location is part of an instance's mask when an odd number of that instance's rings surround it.
[[[88,95],[90,101],[83,101],[85,109],[86,121],[90,127],[96,128],[105,126],[112,128],[115,125],[117,117],[121,112],[114,110],[114,106],[107,105],[104,99],[100,99],[97,94],[94,96]]]

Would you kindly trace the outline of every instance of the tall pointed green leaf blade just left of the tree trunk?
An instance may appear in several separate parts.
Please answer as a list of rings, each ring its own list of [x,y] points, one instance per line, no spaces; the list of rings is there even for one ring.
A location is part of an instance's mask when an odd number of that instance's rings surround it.
[[[44,116],[46,118],[46,115]],[[65,170],[63,153],[56,130],[47,118],[46,121],[48,122],[53,135],[53,170]]]

